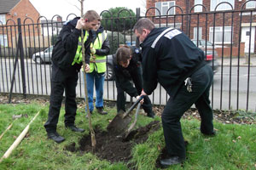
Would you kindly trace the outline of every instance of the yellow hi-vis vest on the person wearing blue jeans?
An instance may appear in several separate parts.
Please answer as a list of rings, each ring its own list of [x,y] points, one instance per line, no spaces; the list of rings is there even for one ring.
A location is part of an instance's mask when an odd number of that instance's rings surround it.
[[[102,33],[97,34],[95,42],[91,42],[90,48],[95,48],[95,49],[101,49],[103,42],[106,40],[107,34],[103,31]],[[107,67],[106,67],[106,60],[107,56],[100,56],[96,55],[96,59],[90,58],[90,72],[96,71],[98,73],[106,72]]]

